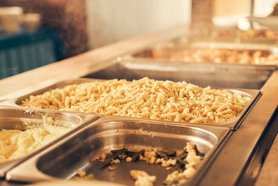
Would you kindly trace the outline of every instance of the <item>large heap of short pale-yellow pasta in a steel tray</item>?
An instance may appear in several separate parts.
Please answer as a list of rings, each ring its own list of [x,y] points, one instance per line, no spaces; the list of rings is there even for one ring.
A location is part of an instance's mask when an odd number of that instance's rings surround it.
[[[190,123],[221,123],[236,118],[250,98],[187,82],[133,80],[73,84],[31,95],[23,107],[151,118]]]

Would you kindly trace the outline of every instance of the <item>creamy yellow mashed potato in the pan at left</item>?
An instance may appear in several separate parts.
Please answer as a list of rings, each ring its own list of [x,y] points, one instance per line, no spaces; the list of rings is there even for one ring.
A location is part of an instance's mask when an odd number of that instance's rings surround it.
[[[46,125],[40,128],[0,131],[0,162],[24,157],[70,130]]]

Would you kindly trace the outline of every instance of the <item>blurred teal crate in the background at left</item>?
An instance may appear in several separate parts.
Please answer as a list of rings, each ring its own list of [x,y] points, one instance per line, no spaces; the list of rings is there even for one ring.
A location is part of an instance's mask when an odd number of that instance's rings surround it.
[[[53,29],[0,34],[0,79],[63,59],[63,42]]]

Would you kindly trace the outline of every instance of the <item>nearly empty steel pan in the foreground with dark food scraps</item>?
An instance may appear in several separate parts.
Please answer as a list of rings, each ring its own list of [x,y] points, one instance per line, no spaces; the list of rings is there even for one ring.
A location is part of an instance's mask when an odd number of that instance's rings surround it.
[[[24,182],[70,179],[76,175],[77,169],[82,169],[86,173],[93,173],[97,180],[133,185],[129,171],[140,169],[156,175],[155,185],[162,185],[167,174],[173,170],[166,171],[160,164],[122,162],[117,164],[115,171],[108,171],[107,168],[100,169],[98,161],[90,162],[90,159],[123,146],[136,151],[142,148],[168,148],[177,150],[179,154],[186,142],[190,141],[197,145],[200,152],[205,153],[197,173],[185,184],[193,185],[202,178],[202,173],[224,143],[227,134],[230,131],[225,127],[192,127],[171,122],[161,125],[161,121],[107,116],[15,167],[7,173],[6,179]]]

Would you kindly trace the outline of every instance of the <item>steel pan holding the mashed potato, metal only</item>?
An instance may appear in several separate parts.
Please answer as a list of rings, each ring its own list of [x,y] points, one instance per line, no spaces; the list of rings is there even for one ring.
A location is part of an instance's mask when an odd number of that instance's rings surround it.
[[[91,114],[71,114],[67,112],[57,112],[57,111],[42,111],[36,109],[18,109],[13,107],[0,107],[0,130],[26,130],[32,127],[40,127],[43,125],[42,116],[50,116],[53,118],[57,125],[72,128],[69,132],[66,132],[63,136],[71,134],[75,130],[83,127],[88,121],[97,120],[97,116]],[[28,124],[28,127],[26,127]],[[17,158],[14,160],[8,160],[6,162],[0,162],[0,177],[5,176],[6,171],[11,169],[13,166],[19,164],[20,162],[26,160],[28,157],[35,155],[41,150],[47,148],[51,144],[56,144],[57,141],[63,138],[52,141],[51,143],[35,150],[30,155],[26,155],[22,158]]]

